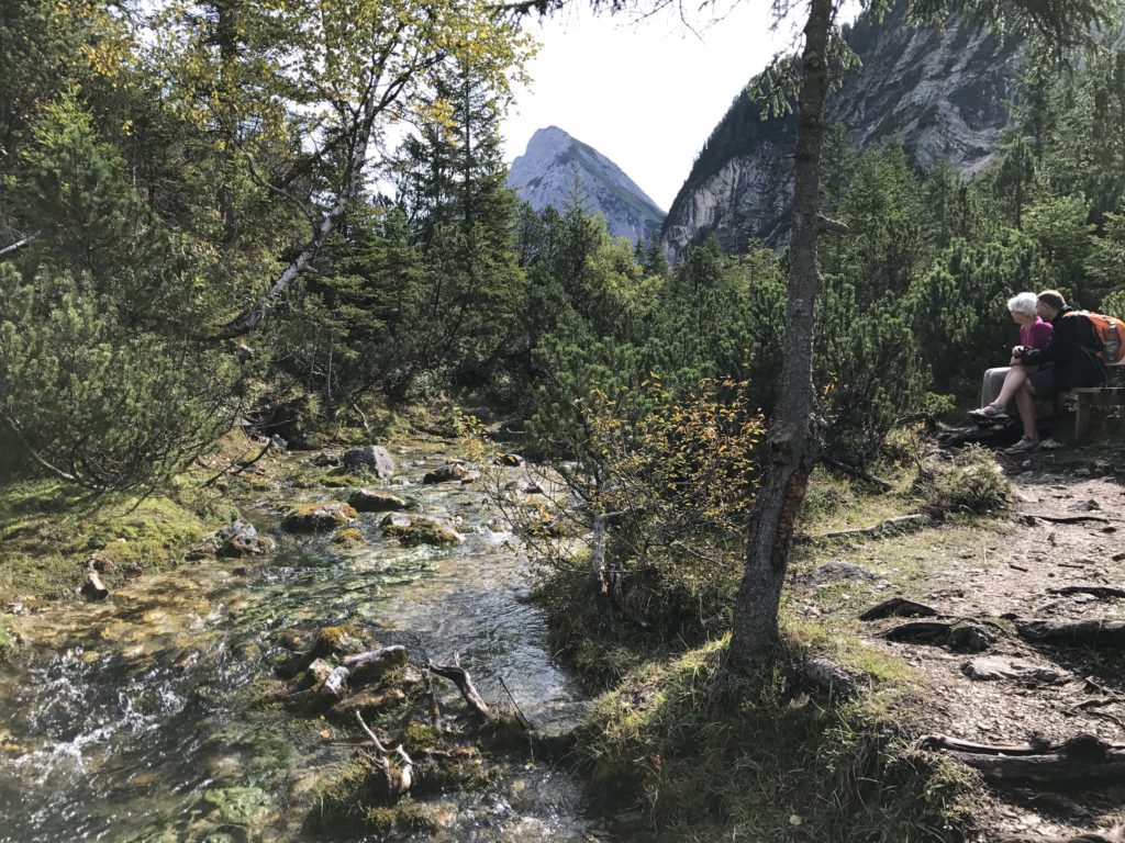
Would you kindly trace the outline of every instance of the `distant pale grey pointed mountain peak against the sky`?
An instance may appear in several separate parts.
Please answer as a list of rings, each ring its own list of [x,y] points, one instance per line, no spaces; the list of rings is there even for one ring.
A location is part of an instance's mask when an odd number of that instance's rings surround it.
[[[512,162],[507,185],[537,211],[562,209],[577,194],[588,212],[605,217],[615,237],[648,239],[664,221],[664,211],[621,167],[555,126],[531,137]]]

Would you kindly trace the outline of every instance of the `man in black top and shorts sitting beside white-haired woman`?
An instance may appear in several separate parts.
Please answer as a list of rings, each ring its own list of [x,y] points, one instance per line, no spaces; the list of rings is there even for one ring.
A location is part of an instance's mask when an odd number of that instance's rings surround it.
[[[1106,366],[1097,356],[1101,347],[1094,325],[1081,316],[1066,318],[1073,311],[1058,290],[1044,290],[1036,303],[1040,317],[1051,323],[1051,339],[1043,348],[1017,346],[1012,365],[1004,379],[996,400],[973,410],[976,418],[997,418],[1008,401],[1015,399],[1024,423],[1024,437],[1005,453],[1036,451],[1040,435],[1035,426],[1035,398],[1050,398],[1074,387],[1096,387],[1106,382]],[[1032,370],[1032,366],[1038,366]]]

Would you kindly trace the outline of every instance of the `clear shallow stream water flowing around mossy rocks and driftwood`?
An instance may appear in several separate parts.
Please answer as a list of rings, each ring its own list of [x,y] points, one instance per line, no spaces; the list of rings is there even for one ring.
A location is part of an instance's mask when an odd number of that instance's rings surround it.
[[[0,843],[386,840],[309,822],[362,736],[266,692],[287,629],[352,624],[405,645],[415,664],[458,658],[486,699],[510,707],[510,690],[544,732],[582,716],[587,700],[524,600],[526,559],[483,491],[421,483],[456,446],[390,451],[397,473],[382,488],[456,523],[461,544],[403,546],[382,536],[378,513],[352,525],[363,533],[353,547],[333,544],[331,532],[287,535],[282,504],[345,500],[349,490],[263,491],[236,502],[277,538],[273,554],[184,562],[102,602],[17,618],[27,645],[0,664]],[[281,459],[304,469],[312,455]],[[505,471],[521,482],[524,469]],[[452,686],[441,698],[443,710],[465,710]],[[495,763],[495,786],[426,797],[435,831],[396,839],[591,839],[594,821],[568,771],[536,759]]]

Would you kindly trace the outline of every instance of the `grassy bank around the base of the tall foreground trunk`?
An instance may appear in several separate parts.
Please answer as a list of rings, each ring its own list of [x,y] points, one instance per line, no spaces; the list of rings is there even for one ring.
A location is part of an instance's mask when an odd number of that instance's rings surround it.
[[[667,841],[904,843],[971,833],[979,781],[914,746],[933,689],[910,665],[866,643],[856,615],[892,595],[912,595],[922,569],[940,569],[982,531],[1001,531],[972,509],[1004,510],[1009,489],[991,459],[973,453],[922,477],[900,470],[897,478],[892,491],[875,492],[816,475],[803,516],[808,536],[908,513],[935,520],[874,541],[798,544],[784,596],[783,652],[773,673],[753,682],[722,670],[741,573],[738,549],[719,558],[709,547],[691,572],[683,570],[685,556],[666,560],[665,600],[683,605],[656,607],[659,619],[649,616],[656,623],[647,627],[638,609],[609,635],[588,598],[588,577],[580,575],[587,560],[547,580],[540,596],[554,643],[601,689],[579,732],[577,762],[603,808],[626,812]],[[845,568],[837,578],[842,563],[862,566],[863,575]],[[630,596],[640,591],[630,588]],[[646,597],[638,606],[655,604]],[[862,691],[843,699],[811,687],[801,671],[810,656],[847,670]]]

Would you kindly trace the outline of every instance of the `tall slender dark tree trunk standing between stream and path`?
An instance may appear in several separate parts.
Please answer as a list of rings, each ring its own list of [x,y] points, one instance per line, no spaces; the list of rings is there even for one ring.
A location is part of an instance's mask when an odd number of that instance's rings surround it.
[[[782,389],[770,428],[770,462],[750,517],[746,569],[735,604],[730,669],[747,674],[773,659],[777,607],[793,525],[817,461],[812,413],[813,302],[820,282],[819,166],[828,93],[828,30],[832,0],[810,0],[801,56],[801,102],[793,184],[789,305]]]

